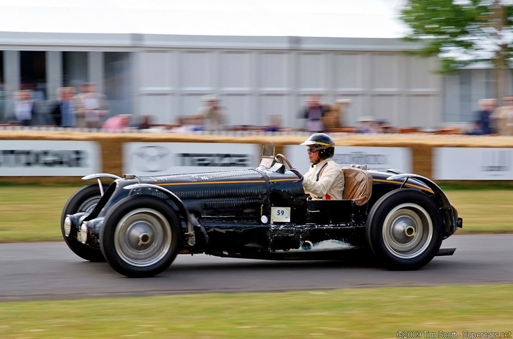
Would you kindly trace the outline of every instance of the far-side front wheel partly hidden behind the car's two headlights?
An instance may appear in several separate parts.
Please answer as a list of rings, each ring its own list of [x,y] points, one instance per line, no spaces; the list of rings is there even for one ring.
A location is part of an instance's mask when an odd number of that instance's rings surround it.
[[[102,184],[102,186],[104,192],[109,187],[109,185],[106,184]],[[100,186],[98,184],[82,187],[68,199],[61,216],[61,232],[63,234],[64,241],[76,255],[90,262],[105,262],[102,251],[99,248],[95,249],[82,244],[75,236],[66,236],[64,232],[64,220],[68,214],[91,212],[98,201],[100,201],[101,197],[102,193],[100,192]]]

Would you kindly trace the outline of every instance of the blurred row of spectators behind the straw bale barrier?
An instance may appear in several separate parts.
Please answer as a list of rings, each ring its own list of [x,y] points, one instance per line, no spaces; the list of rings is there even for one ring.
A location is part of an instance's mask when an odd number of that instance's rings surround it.
[[[105,132],[143,130],[148,132],[198,132],[220,131],[307,131],[338,133],[435,133],[457,135],[513,135],[513,96],[503,98],[504,105],[498,107],[497,99],[478,101],[478,109],[472,113],[474,120],[463,127],[427,129],[423,127],[398,128],[391,126],[384,118],[360,116],[356,126],[347,124],[347,114],[352,100],[337,99],[326,104],[322,95],[311,94],[298,108],[297,118],[302,127],[283,126],[282,115],[267,115],[267,124],[229,125],[229,110],[222,105],[218,95],[203,95],[198,111],[176,116],[171,124],[156,124],[155,116],[133,114],[112,114],[109,100],[98,92],[94,83],[81,83],[77,87],[59,87],[56,99],[46,100],[43,92],[36,89],[17,90],[13,93],[12,109],[0,126],[8,127],[61,127],[94,129]],[[1,89],[1,88],[0,88]]]

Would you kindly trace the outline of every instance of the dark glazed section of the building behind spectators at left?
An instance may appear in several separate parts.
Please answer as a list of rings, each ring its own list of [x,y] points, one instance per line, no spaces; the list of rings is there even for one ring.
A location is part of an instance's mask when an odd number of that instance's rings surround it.
[[[130,52],[0,51],[0,122],[13,121],[14,93],[30,90],[41,115],[46,118],[58,87],[78,88],[95,82],[105,94],[109,115],[133,114]],[[98,54],[99,53],[99,54]],[[91,57],[94,59],[91,59]],[[98,63],[100,61],[100,63]],[[11,70],[6,72],[6,70]]]

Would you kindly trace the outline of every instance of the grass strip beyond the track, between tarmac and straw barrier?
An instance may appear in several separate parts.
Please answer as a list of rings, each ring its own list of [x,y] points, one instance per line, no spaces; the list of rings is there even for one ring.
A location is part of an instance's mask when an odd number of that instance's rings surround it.
[[[0,185],[0,243],[61,240],[61,213],[81,186]],[[458,233],[513,232],[513,194],[502,188],[444,187],[463,217]]]

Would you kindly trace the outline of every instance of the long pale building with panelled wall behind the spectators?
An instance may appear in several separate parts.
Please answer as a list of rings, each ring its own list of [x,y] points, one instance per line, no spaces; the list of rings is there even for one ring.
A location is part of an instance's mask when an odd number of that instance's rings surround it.
[[[491,96],[488,71],[442,77],[437,58],[404,53],[412,48],[387,38],[0,32],[0,119],[17,89],[54,99],[58,87],[95,82],[111,115],[159,124],[195,113],[205,94],[219,95],[230,125],[279,114],[283,126],[301,127],[311,93],[325,104],[352,99],[350,126],[364,115],[397,127],[471,121],[478,99]]]

